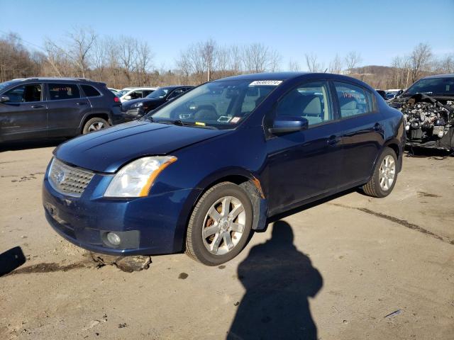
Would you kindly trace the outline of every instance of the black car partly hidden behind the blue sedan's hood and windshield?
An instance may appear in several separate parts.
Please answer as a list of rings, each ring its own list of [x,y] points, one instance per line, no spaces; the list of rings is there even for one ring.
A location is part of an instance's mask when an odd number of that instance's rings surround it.
[[[165,86],[145,98],[133,99],[123,103],[123,117],[126,121],[141,118],[143,115],[161,106],[166,101],[177,98],[180,94],[193,89],[194,86]]]

